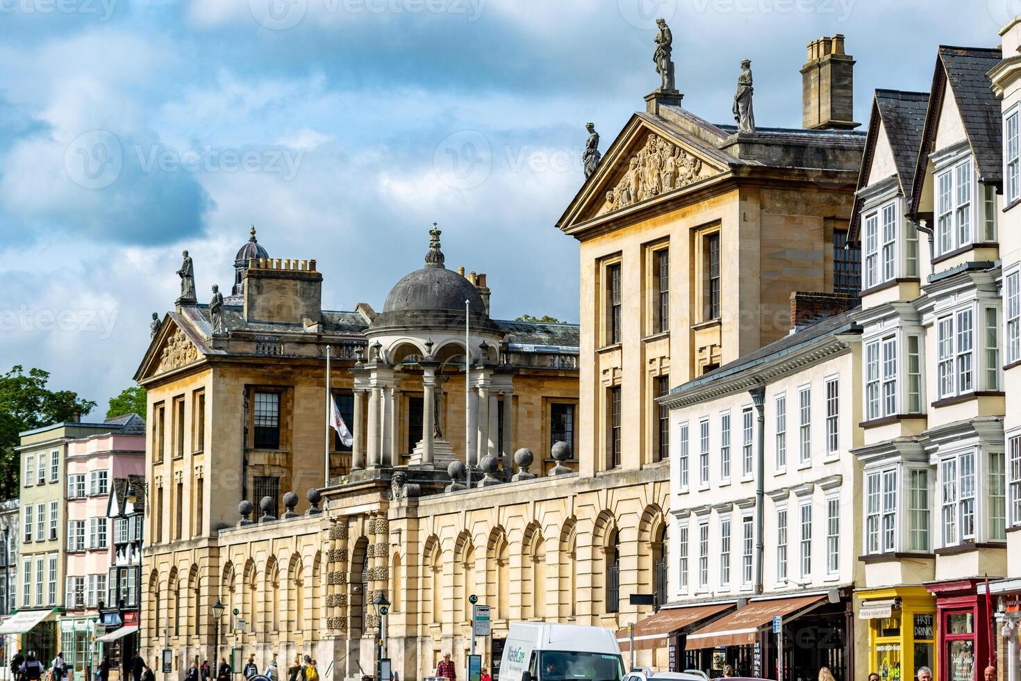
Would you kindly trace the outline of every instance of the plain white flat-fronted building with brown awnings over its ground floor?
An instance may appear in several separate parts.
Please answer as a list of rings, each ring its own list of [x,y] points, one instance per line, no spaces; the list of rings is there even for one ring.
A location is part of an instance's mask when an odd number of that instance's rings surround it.
[[[776,678],[781,616],[784,678],[861,676],[860,334],[847,312],[799,325],[661,399],[676,434],[671,606],[636,646],[666,638],[685,669]]]

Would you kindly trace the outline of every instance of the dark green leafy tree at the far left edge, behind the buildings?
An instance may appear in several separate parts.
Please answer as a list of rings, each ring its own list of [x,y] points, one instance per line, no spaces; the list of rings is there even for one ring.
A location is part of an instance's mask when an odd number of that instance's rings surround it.
[[[21,467],[14,451],[17,434],[47,424],[71,421],[96,403],[71,390],[50,390],[50,373],[15,364],[0,376],[0,498],[17,496]]]

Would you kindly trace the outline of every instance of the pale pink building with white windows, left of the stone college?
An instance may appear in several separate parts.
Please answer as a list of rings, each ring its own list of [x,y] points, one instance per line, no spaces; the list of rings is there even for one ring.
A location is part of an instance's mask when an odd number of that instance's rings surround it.
[[[107,600],[114,562],[107,517],[110,489],[114,478],[145,474],[145,421],[132,415],[117,433],[72,440],[66,467],[66,612],[60,618],[60,648],[68,667],[74,666],[75,678],[84,680],[101,659],[100,646],[91,641],[104,631],[98,606]]]

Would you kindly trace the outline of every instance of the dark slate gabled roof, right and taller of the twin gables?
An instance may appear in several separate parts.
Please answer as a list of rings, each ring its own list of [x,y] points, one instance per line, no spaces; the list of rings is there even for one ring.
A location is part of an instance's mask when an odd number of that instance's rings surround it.
[[[975,175],[983,184],[1003,184],[1003,131],[1000,100],[992,93],[989,70],[1000,63],[999,48],[950,47],[940,45],[936,68],[932,76],[929,108],[915,162],[915,178],[911,192],[911,210],[918,212],[918,202],[925,181],[926,164],[933,151],[939,123],[939,111],[947,86],[964,126],[968,144],[975,157]]]

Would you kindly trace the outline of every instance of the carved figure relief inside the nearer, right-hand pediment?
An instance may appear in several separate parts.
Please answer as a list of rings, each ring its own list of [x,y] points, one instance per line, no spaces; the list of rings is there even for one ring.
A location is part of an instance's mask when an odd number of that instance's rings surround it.
[[[637,150],[625,157],[627,161],[620,163],[625,169],[605,185],[603,200],[595,216],[681,189],[719,173],[654,132],[645,133],[644,139],[639,138]]]

